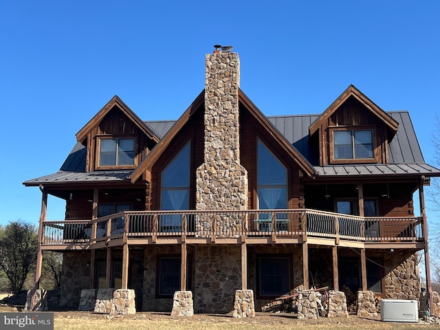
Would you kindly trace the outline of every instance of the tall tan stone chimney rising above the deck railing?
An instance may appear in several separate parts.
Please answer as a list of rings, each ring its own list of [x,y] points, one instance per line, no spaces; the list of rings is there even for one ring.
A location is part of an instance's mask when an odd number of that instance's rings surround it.
[[[239,55],[214,45],[205,74],[204,163],[196,172],[197,210],[248,209],[248,172],[240,164]]]

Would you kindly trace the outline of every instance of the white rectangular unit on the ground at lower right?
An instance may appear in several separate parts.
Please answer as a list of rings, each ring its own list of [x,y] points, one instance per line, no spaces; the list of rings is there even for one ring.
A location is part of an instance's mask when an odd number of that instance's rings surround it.
[[[417,300],[380,300],[382,321],[388,322],[419,322]]]

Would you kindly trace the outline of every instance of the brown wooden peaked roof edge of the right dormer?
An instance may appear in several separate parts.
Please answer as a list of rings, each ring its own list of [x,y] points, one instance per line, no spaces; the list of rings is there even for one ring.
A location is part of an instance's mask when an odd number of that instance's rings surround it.
[[[372,100],[367,98],[362,91],[357,89],[354,85],[349,85],[345,91],[342,92],[342,94],[333,101],[333,103],[330,104],[330,106],[325,109],[323,113],[318,117],[318,119],[310,125],[309,127],[309,134],[313,135],[319,127],[327,120],[330,115],[335,112],[342,103],[344,103],[350,96],[353,96],[356,100],[358,100],[360,103],[362,103],[369,111],[377,115],[377,117],[388,126],[389,129],[393,133],[397,132],[397,128],[399,126],[399,123],[396,122],[390,115],[388,115],[384,110],[382,110],[380,107],[375,104]]]

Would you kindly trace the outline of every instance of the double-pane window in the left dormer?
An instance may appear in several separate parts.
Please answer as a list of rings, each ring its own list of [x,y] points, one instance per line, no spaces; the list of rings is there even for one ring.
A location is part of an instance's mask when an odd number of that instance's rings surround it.
[[[135,164],[135,139],[100,139],[99,166]]]

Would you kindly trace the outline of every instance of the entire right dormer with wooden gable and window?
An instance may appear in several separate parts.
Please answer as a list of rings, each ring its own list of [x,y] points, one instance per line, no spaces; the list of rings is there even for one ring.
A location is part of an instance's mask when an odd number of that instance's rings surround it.
[[[388,164],[388,143],[399,123],[350,85],[309,126],[319,145],[320,166]]]

